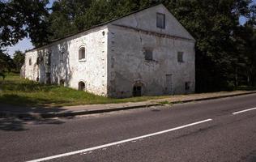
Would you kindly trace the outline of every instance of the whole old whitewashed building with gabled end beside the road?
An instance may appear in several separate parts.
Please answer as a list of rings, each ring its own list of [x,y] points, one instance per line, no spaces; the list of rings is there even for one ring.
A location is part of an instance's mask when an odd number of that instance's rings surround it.
[[[192,93],[194,43],[160,4],[28,51],[23,74],[100,96]]]

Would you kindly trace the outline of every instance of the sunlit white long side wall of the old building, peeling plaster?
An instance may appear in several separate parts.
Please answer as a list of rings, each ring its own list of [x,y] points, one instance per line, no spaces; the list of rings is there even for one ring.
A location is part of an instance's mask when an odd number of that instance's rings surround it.
[[[65,80],[65,86],[78,89],[83,81],[86,91],[96,95],[107,94],[107,28],[93,28],[87,32],[58,40],[40,49],[26,53],[25,77],[46,83],[46,73],[50,72],[51,83]],[[79,48],[85,47],[86,59],[79,61]],[[46,54],[51,53],[50,66]],[[36,65],[36,58],[42,58]],[[32,66],[28,59],[32,58]]]

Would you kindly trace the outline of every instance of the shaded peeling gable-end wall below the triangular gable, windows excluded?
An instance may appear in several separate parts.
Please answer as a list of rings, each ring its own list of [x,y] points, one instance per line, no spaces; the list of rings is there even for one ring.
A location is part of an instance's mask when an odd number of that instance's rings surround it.
[[[153,50],[153,61],[144,58],[144,48]],[[184,62],[177,62],[184,52]],[[109,96],[132,96],[134,83],[143,83],[143,95],[194,92],[194,40],[175,39],[133,28],[109,25]],[[172,75],[167,92],[166,75]],[[190,90],[185,89],[190,82]]]

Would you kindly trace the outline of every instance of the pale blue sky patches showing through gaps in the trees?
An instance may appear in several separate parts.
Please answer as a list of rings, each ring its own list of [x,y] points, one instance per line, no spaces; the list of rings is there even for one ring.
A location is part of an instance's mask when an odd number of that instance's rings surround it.
[[[53,5],[53,1],[54,0],[49,0],[48,7]],[[256,0],[254,0],[254,3],[256,3]],[[239,22],[241,24],[244,24],[245,21],[246,21],[246,19],[244,17],[241,17],[239,19]],[[33,49],[33,48],[34,48],[34,46],[32,45],[31,40],[28,37],[26,37],[23,40],[20,40],[18,42],[18,44],[11,46],[11,47],[7,47],[6,52],[12,56],[12,54],[15,53],[16,50],[20,50],[20,51],[24,52],[26,49]]]

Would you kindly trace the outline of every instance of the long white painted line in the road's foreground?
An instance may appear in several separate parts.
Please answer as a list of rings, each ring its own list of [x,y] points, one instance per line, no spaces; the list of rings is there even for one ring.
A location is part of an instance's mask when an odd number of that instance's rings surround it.
[[[27,162],[41,162],[41,161],[45,161],[45,160],[53,160],[53,159],[57,159],[57,158],[60,158],[60,157],[63,157],[63,156],[73,156],[75,154],[81,154],[81,153],[87,152],[87,151],[89,151],[89,153],[90,153],[90,152],[92,152],[94,150],[98,150],[100,148],[111,147],[111,146],[114,146],[114,145],[118,146],[118,144],[121,144],[121,143],[128,143],[128,142],[132,142],[132,141],[138,140],[138,139],[144,139],[144,138],[159,135],[159,134],[165,134],[165,133],[168,133],[168,132],[171,132],[171,131],[174,131],[174,130],[181,130],[181,129],[189,127],[189,126],[195,126],[195,125],[198,125],[198,124],[202,124],[203,122],[210,122],[210,121],[212,121],[212,119],[207,119],[207,120],[203,120],[203,121],[200,121],[200,122],[193,122],[193,123],[190,123],[190,124],[187,124],[187,125],[184,125],[184,126],[178,126],[178,127],[175,127],[175,128],[169,129],[169,130],[163,130],[163,131],[159,131],[159,132],[152,133],[152,134],[145,134],[145,135],[135,137],[135,138],[132,138],[132,139],[125,139],[125,140],[122,140],[122,141],[117,141],[117,142],[114,142],[114,143],[108,143],[108,144],[100,145],[100,146],[97,146],[97,147],[85,148],[83,150],[78,150],[78,151],[70,151],[70,152],[67,152],[67,153],[64,153],[64,154],[44,157],[44,158],[37,159],[37,160],[30,160],[30,161],[27,161]]]

